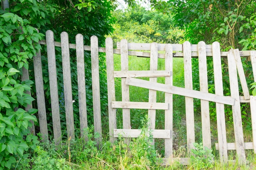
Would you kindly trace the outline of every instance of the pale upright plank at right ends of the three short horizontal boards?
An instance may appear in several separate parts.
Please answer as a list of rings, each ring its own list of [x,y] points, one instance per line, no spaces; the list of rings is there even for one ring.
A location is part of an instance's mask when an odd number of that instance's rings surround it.
[[[173,46],[165,46],[165,69],[173,72]],[[165,78],[166,85],[173,85],[173,76]],[[164,129],[171,130],[169,139],[164,139],[164,157],[173,155],[173,94],[165,93],[165,103],[168,103],[168,110],[164,111]]]

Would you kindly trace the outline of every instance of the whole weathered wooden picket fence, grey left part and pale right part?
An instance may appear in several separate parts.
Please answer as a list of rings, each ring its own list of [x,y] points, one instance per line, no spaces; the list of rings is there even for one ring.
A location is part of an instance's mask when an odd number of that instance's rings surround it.
[[[183,164],[188,164],[189,158],[173,158],[173,94],[177,94],[185,96],[188,153],[191,152],[193,143],[195,143],[193,98],[198,98],[201,101],[203,146],[211,148],[212,145],[209,113],[209,101],[212,101],[216,103],[218,143],[215,143],[215,145],[216,149],[219,150],[220,160],[222,162],[228,161],[228,150],[236,150],[240,163],[246,163],[245,150],[253,149],[256,153],[256,97],[249,95],[246,77],[240,58],[240,56],[250,56],[254,81],[256,81],[256,51],[239,51],[238,49],[231,49],[228,52],[222,52],[220,51],[220,44],[218,42],[213,42],[212,45],[206,45],[204,42],[199,42],[197,45],[191,45],[190,42],[184,42],[183,44],[157,44],[155,42],[151,44],[142,44],[128,43],[126,40],[121,40],[121,42],[117,44],[117,49],[114,49],[111,38],[106,38],[106,48],[101,48],[98,47],[98,39],[96,36],[91,37],[91,46],[84,46],[83,36],[81,34],[76,35],[76,44],[70,44],[68,34],[66,32],[61,33],[61,42],[55,42],[52,31],[46,32],[46,42],[40,42],[40,44],[47,46],[53,133],[54,140],[57,144],[61,141],[62,134],[56,76],[55,47],[61,47],[63,75],[65,75],[63,76],[63,81],[68,138],[74,138],[74,116],[69,49],[76,49],[81,130],[87,128],[88,126],[84,72],[84,50],[87,50],[91,51],[92,61],[94,131],[99,132],[100,134],[102,133],[99,87],[99,52],[104,52],[106,53],[107,65],[108,118],[111,142],[114,142],[120,135],[126,138],[138,137],[141,131],[130,128],[130,109],[147,109],[148,117],[150,119],[149,130],[152,132],[153,138],[164,139],[164,164],[168,165],[172,163],[173,160],[180,161]],[[159,51],[164,51],[164,54],[159,54]],[[121,71],[114,70],[114,54],[121,54]],[[128,56],[148,57],[150,59],[150,70],[129,70]],[[207,56],[211,56],[213,58],[215,94],[208,92]],[[184,58],[184,88],[173,86],[173,57]],[[200,91],[193,90],[192,57],[198,57],[199,61]],[[227,57],[228,60],[231,92],[230,96],[223,95],[221,57]],[[165,70],[157,70],[158,58],[165,59]],[[43,135],[45,140],[48,140],[40,53],[34,57],[34,69],[40,133]],[[239,83],[243,89],[243,96],[240,96],[239,94],[238,76],[240,80]],[[149,81],[141,80],[139,77],[149,77]],[[165,77],[165,84],[157,83],[157,77]],[[121,101],[116,101],[115,99],[115,78],[121,78]],[[149,89],[148,102],[130,102],[129,86]],[[157,103],[157,91],[164,92],[164,103]],[[251,107],[253,134],[252,142],[244,142],[240,103],[249,103]],[[235,143],[227,143],[224,105],[232,106]],[[122,109],[123,129],[117,129],[116,108]],[[164,110],[165,112],[164,130],[155,130],[156,110]],[[86,136],[84,137],[86,139]],[[97,143],[99,144],[100,142],[101,137],[97,138]]]

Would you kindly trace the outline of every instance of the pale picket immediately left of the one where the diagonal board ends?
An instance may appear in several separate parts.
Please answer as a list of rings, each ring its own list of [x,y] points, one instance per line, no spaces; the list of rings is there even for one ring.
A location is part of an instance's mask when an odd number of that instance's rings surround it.
[[[220,43],[213,42],[213,72],[214,72],[214,87],[217,95],[223,96],[223,82],[222,82],[222,68],[220,56]],[[225,109],[224,104],[216,103],[216,118],[217,118],[217,131],[218,142],[220,145],[220,161],[227,163],[227,134],[225,123]]]

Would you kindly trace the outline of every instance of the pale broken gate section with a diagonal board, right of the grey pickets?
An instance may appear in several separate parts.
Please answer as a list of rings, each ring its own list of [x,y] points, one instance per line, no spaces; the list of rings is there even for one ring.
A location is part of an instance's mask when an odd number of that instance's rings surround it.
[[[113,69],[113,50],[111,38],[106,39],[106,58],[108,70],[108,102],[109,102],[109,119],[110,119],[110,140],[122,136],[126,138],[138,137],[140,130],[131,129],[130,109],[148,109],[148,118],[150,119],[149,130],[153,138],[165,139],[165,165],[174,160],[183,164],[189,164],[189,158],[173,158],[173,94],[185,96],[186,103],[186,135],[188,155],[195,143],[195,125],[194,125],[194,103],[193,98],[201,100],[202,114],[202,141],[203,146],[211,149],[211,130],[210,130],[210,113],[209,101],[216,102],[218,143],[216,149],[220,152],[220,160],[228,161],[227,150],[236,150],[240,163],[246,162],[245,149],[253,149],[255,143],[245,143],[243,138],[243,127],[241,119],[240,103],[251,103],[253,136],[255,137],[255,119],[254,110],[256,107],[255,98],[249,95],[246,83],[245,73],[240,58],[242,56],[251,56],[252,65],[255,73],[255,53],[254,51],[239,51],[231,49],[229,52],[221,52],[220,44],[214,42],[212,45],[205,45],[199,42],[198,45],[191,45],[184,42],[183,45],[177,44],[140,44],[128,43],[121,40],[118,45],[121,54],[121,71]],[[150,51],[150,52],[142,52]],[[158,51],[165,51],[165,54],[159,54]],[[173,53],[175,51],[175,53]],[[136,71],[128,69],[128,55],[141,56],[150,58],[150,70]],[[215,92],[208,93],[207,79],[207,56],[213,58]],[[175,87],[172,85],[173,57],[183,57],[184,59],[184,81],[185,88]],[[200,74],[200,91],[193,90],[192,82],[192,63],[191,58],[198,57],[199,74]],[[222,63],[221,57],[228,58],[229,81],[231,96],[223,95],[222,86]],[[165,58],[165,70],[157,70],[158,58]],[[238,76],[243,88],[243,95],[239,95]],[[141,80],[140,77],[149,77],[149,81]],[[157,77],[165,77],[165,84],[157,83]],[[122,101],[115,100],[115,78],[121,78],[121,95]],[[256,79],[255,79],[256,80]],[[148,102],[130,102],[129,85],[149,89]],[[165,103],[156,103],[156,91],[165,92]],[[224,105],[231,105],[234,119],[235,143],[227,143],[225,110]],[[123,129],[117,129],[116,108],[122,108]],[[165,129],[155,130],[156,110],[165,110]],[[255,142],[255,140],[254,140]],[[154,143],[153,143],[154,144]],[[254,150],[255,151],[255,150]]]

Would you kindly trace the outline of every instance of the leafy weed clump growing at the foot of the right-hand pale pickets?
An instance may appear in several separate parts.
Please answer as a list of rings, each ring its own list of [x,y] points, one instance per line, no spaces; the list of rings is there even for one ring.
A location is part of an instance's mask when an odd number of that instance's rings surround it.
[[[213,159],[212,150],[203,147],[202,143],[193,143],[194,149],[191,149],[191,167],[195,170],[203,170],[213,168]]]

